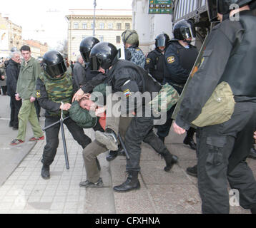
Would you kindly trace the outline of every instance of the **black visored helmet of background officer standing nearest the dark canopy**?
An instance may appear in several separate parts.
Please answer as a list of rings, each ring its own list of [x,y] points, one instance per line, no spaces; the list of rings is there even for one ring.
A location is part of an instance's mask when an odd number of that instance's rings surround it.
[[[184,41],[186,38],[195,38],[195,25],[192,21],[182,19],[174,24],[173,36],[177,40],[182,41]]]

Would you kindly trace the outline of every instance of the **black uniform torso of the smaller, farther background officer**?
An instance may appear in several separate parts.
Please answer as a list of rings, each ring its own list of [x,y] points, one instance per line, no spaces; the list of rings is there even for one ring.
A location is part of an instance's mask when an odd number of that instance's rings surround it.
[[[162,83],[164,81],[164,64],[164,55],[159,49],[155,49],[148,53],[144,68],[159,83]]]

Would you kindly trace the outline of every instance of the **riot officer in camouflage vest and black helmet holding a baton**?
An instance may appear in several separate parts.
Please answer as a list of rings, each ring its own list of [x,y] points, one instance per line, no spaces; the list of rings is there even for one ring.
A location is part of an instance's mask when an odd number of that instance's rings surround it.
[[[45,126],[56,123],[61,118],[69,115],[72,95],[74,93],[72,86],[72,76],[67,73],[67,67],[64,58],[58,51],[48,51],[44,54],[42,61],[43,72],[36,82],[36,98],[42,108],[46,110]],[[83,128],[80,128],[71,118],[64,120],[69,132],[74,140],[83,148],[92,140],[84,134]],[[41,177],[49,179],[49,167],[54,161],[56,150],[59,145],[60,123],[46,130],[46,145],[41,162]]]

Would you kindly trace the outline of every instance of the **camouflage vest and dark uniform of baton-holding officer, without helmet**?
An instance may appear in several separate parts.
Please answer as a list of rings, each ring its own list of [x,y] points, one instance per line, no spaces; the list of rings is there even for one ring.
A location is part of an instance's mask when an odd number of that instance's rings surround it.
[[[64,73],[61,78],[51,78],[45,73],[41,73],[36,83],[36,98],[39,104],[46,110],[45,126],[56,123],[60,116],[60,105],[63,103],[71,103],[73,95],[72,76],[69,73]],[[64,111],[64,116],[69,115],[69,112]],[[71,118],[64,121],[69,132],[74,140],[83,148],[86,147],[92,140],[84,134],[84,130],[80,128]],[[41,162],[44,165],[51,165],[56,155],[56,150],[59,145],[59,128],[60,124],[46,130],[46,145],[44,146],[43,158]]]

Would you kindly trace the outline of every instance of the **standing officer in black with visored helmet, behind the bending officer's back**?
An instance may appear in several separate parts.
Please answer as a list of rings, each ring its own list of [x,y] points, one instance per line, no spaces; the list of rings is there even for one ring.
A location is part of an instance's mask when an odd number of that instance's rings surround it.
[[[164,83],[169,83],[181,94],[198,55],[197,48],[190,44],[192,37],[195,37],[195,27],[190,21],[178,21],[174,24],[173,35],[174,39],[169,41],[168,48],[164,53]],[[167,111],[167,122],[157,128],[157,135],[163,142],[164,138],[169,135],[169,130],[172,126],[174,108],[175,105]],[[187,131],[184,144],[196,150],[196,144],[193,140],[194,133],[195,129],[193,128]]]

